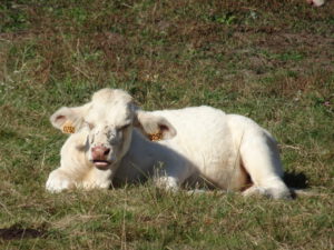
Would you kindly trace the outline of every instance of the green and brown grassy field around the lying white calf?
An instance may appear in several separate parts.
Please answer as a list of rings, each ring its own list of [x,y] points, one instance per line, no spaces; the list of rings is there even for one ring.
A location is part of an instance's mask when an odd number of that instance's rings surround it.
[[[315,194],[46,192],[49,117],[104,87],[253,118]],[[0,249],[334,249],[334,1],[2,0],[0,149]]]

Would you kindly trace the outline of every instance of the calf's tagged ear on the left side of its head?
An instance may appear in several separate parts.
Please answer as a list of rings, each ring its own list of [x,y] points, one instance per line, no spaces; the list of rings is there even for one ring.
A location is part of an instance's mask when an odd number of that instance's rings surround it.
[[[63,133],[75,133],[84,126],[84,116],[87,110],[87,104],[76,108],[62,107],[50,117],[50,122]]]

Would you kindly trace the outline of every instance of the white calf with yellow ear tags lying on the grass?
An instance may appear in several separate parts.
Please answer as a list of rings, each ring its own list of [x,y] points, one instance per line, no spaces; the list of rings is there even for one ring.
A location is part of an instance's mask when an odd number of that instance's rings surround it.
[[[291,197],[274,138],[246,117],[210,107],[147,112],[127,92],[102,89],[89,103],[61,108],[50,120],[75,133],[49,176],[49,191],[153,177],[169,190],[205,180],[245,196]],[[161,140],[149,141],[149,134]]]

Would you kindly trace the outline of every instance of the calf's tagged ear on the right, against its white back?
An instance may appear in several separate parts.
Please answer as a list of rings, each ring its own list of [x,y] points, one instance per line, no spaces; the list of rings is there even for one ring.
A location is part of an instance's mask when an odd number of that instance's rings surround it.
[[[177,133],[167,119],[141,110],[136,112],[134,124],[150,140],[170,139]]]

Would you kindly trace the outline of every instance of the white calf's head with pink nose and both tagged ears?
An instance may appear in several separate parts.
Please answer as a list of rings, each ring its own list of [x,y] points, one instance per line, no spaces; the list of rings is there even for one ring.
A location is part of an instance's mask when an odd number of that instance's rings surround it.
[[[86,132],[87,159],[99,169],[117,168],[130,147],[135,127],[144,134],[160,133],[163,139],[176,134],[166,119],[139,110],[127,92],[117,89],[99,90],[81,107],[63,107],[50,121],[63,132]]]

